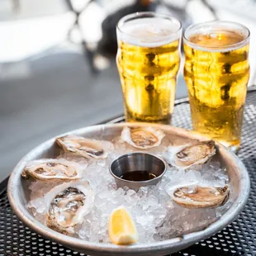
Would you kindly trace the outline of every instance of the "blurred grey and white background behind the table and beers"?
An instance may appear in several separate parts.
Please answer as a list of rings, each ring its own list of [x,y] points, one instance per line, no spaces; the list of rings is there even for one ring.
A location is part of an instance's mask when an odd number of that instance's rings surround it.
[[[183,29],[213,19],[248,26],[254,84],[255,0],[1,0],[0,180],[44,140],[122,114],[115,26],[140,11],[178,17]],[[182,69],[176,97],[187,97]]]

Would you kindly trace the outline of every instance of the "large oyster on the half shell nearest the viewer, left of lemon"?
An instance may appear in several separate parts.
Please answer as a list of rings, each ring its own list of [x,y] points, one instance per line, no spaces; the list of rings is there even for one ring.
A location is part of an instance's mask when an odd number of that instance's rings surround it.
[[[94,192],[88,182],[63,183],[45,195],[46,224],[53,230],[72,235],[74,228],[92,210]]]

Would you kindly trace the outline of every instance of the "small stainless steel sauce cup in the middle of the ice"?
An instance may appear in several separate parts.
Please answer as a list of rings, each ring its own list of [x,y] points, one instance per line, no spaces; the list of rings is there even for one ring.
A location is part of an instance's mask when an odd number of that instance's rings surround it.
[[[111,175],[115,178],[117,187],[129,187],[138,191],[140,187],[156,185],[162,179],[166,172],[167,164],[164,160],[155,156],[154,154],[143,152],[131,152],[122,154],[115,159],[109,166]],[[134,171],[145,171],[154,173],[155,178],[145,181],[130,181],[120,178],[124,173]]]

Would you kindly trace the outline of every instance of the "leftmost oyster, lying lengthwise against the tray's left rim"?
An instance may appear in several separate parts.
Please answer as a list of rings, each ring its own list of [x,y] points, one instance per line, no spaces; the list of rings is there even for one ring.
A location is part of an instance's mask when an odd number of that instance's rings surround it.
[[[65,159],[40,159],[26,164],[21,176],[31,180],[72,181],[82,177],[83,169],[79,164]]]

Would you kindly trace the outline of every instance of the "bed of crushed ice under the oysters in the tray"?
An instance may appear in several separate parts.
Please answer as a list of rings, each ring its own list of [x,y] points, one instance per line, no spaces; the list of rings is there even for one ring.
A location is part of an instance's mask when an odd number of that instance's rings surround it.
[[[141,187],[138,192],[128,187],[117,188],[114,178],[108,171],[108,165],[118,155],[130,151],[139,151],[119,139],[113,140],[107,159],[83,159],[70,154],[59,158],[73,160],[83,167],[83,179],[90,183],[95,192],[92,211],[85,216],[83,224],[76,227],[76,235],[92,242],[109,243],[108,218],[118,206],[126,206],[135,221],[139,234],[139,243],[151,243],[184,235],[192,231],[203,230],[216,221],[230,206],[216,209],[187,209],[175,204],[169,193],[178,185],[204,183],[222,187],[229,183],[225,168],[220,168],[216,160],[211,159],[201,167],[178,171],[169,167],[161,183],[152,187]],[[161,156],[168,140],[148,152]],[[29,207],[36,219],[45,223],[45,193],[59,183],[36,182],[30,184],[31,201]]]

